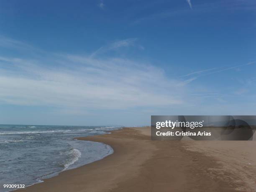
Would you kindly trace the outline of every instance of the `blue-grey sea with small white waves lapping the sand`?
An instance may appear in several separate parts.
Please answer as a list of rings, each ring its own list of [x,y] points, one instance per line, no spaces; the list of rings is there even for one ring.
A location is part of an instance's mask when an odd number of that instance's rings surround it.
[[[3,184],[29,186],[112,154],[113,149],[104,143],[74,138],[119,128],[0,125],[0,192],[13,190]]]

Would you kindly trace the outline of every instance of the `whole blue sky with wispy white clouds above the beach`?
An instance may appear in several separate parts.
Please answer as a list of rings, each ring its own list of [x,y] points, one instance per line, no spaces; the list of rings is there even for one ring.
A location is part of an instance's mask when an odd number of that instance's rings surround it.
[[[255,0],[1,0],[0,124],[256,115]]]

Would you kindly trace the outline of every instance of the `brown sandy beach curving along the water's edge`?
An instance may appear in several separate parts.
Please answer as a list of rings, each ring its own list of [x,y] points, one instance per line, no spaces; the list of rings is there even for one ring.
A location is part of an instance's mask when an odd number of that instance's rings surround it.
[[[255,141],[151,141],[150,128],[78,139],[106,143],[114,153],[17,191],[256,191]]]

